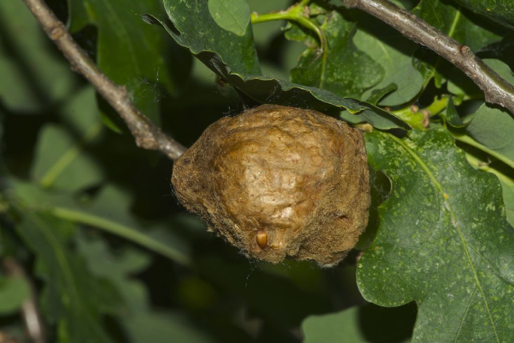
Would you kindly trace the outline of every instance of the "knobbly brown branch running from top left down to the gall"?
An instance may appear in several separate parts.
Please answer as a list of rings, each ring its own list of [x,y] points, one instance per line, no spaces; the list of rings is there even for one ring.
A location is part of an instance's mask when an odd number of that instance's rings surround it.
[[[159,150],[173,160],[187,150],[179,142],[164,134],[136,109],[127,96],[126,88],[116,85],[98,69],[43,0],[23,0],[23,2],[48,34],[48,37],[63,52],[71,68],[82,74],[118,112],[132,132],[138,147]]]

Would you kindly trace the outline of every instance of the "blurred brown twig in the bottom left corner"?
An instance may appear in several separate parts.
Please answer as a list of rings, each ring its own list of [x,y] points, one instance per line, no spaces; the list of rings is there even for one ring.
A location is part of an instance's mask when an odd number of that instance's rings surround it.
[[[38,295],[36,294],[34,284],[27,277],[23,266],[14,258],[8,257],[4,259],[3,265],[9,276],[23,278],[30,285],[30,296],[22,305],[23,320],[30,341],[33,343],[45,343],[45,328],[39,313]]]

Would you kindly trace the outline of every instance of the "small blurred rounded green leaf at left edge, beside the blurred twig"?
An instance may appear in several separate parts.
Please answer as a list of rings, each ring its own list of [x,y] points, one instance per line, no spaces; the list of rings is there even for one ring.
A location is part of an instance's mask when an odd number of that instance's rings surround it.
[[[24,278],[0,276],[0,314],[20,310],[29,295],[30,286]]]

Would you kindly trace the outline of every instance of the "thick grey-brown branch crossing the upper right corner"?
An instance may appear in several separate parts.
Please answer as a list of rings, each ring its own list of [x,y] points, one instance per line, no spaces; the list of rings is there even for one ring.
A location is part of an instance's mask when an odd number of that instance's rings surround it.
[[[358,8],[400,31],[448,60],[482,89],[485,101],[505,107],[514,114],[514,87],[453,38],[432,27],[416,15],[388,0],[341,0],[348,8]]]

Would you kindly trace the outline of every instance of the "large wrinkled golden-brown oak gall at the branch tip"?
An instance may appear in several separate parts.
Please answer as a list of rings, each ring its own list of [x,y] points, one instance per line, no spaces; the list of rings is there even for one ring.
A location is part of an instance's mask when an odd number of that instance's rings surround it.
[[[360,131],[320,112],[262,105],[222,118],[173,166],[179,201],[250,257],[341,261],[368,223]]]

